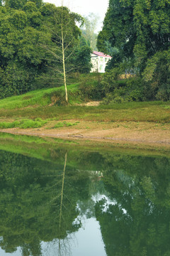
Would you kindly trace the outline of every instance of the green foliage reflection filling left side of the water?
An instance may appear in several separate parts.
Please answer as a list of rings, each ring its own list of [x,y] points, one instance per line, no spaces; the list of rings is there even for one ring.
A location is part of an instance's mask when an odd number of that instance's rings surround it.
[[[0,151],[0,245],[6,252],[21,246],[23,255],[41,255],[41,240],[63,239],[81,225],[72,223],[80,188],[88,196],[88,176],[67,166],[60,220],[64,155],[62,159],[56,165]]]

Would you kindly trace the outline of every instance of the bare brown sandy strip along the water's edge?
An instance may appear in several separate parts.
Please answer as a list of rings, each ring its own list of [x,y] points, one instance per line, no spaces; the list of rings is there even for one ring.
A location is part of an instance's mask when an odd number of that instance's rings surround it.
[[[69,120],[70,122],[70,120]],[[74,122],[74,120],[72,120]],[[51,124],[52,127],[52,124]],[[48,128],[48,129],[47,129]],[[84,139],[94,142],[118,144],[143,144],[152,147],[164,146],[170,149],[170,125],[152,122],[84,122],[72,127],[49,129],[1,129],[0,132],[27,134],[39,137],[58,137],[63,139]]]

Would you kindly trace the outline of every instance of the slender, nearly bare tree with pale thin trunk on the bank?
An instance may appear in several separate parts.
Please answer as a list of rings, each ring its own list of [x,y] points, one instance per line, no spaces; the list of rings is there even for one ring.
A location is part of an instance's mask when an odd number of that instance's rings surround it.
[[[55,7],[52,11],[50,22],[45,24],[47,31],[51,33],[51,43],[41,46],[49,53],[48,67],[58,73],[58,79],[64,83],[65,100],[68,102],[67,73],[74,69],[71,60],[81,35],[76,22],[82,23],[83,18],[70,12],[63,1],[62,6]]]

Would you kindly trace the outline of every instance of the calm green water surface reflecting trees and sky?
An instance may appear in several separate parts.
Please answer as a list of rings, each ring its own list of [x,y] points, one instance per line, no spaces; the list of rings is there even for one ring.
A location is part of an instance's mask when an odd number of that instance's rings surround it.
[[[0,185],[2,256],[170,255],[167,157],[1,150]]]

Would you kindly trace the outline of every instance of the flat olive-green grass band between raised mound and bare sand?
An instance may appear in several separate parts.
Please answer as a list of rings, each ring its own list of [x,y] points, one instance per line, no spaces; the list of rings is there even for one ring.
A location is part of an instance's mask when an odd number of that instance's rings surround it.
[[[108,105],[99,107],[81,106],[51,106],[51,107],[32,107],[23,110],[1,110],[1,118],[17,117],[35,119],[55,119],[58,121],[76,119],[99,122],[170,122],[170,109],[165,109],[162,104],[152,102],[134,102],[134,107],[128,105]],[[142,103],[142,104],[141,104]],[[168,103],[167,103],[168,104]]]

